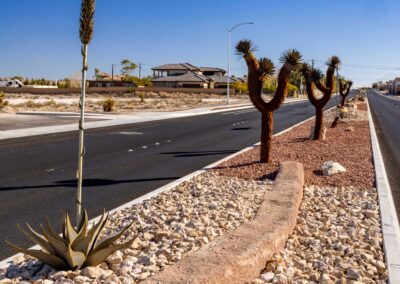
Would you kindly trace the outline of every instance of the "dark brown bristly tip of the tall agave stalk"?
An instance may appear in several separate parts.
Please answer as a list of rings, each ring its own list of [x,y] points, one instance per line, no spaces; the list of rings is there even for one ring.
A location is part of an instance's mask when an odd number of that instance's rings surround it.
[[[94,31],[95,0],[82,0],[79,36],[82,44],[89,44]]]

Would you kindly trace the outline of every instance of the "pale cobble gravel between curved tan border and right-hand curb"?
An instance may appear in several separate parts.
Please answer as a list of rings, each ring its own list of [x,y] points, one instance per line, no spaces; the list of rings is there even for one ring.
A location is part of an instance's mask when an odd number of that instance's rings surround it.
[[[375,189],[307,187],[286,248],[253,283],[386,283]]]

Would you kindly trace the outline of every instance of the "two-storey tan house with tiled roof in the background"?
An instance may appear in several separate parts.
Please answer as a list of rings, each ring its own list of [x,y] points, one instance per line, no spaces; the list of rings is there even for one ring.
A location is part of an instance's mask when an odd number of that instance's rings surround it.
[[[190,63],[153,67],[153,86],[173,88],[226,88],[228,76],[216,67],[197,67]],[[231,77],[231,83],[239,81]]]

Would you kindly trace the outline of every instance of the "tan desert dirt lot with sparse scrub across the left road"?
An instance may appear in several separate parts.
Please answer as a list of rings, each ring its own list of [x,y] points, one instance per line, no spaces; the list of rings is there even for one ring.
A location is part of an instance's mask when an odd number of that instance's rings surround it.
[[[9,112],[23,111],[78,111],[79,94],[32,95],[7,94]],[[104,112],[103,104],[111,99],[115,105],[113,112],[132,111],[175,111],[196,107],[217,106],[226,103],[225,95],[194,93],[136,92],[127,94],[89,94],[86,96],[86,110]],[[247,95],[231,96],[233,104],[249,103]]]

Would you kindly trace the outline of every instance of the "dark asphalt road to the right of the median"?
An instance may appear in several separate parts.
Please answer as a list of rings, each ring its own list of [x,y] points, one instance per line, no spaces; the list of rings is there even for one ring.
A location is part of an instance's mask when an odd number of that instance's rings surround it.
[[[385,163],[390,188],[400,216],[400,100],[368,92],[368,101]]]

